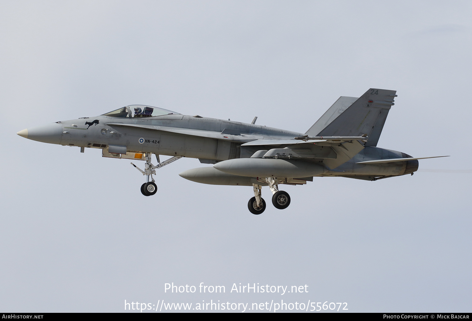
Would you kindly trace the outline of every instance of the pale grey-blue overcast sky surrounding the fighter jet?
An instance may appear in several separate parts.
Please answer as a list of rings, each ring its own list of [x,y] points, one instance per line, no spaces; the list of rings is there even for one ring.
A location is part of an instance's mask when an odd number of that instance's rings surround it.
[[[471,7],[1,0],[0,311],[283,299],[471,312]],[[158,193],[143,197],[129,161],[16,135],[128,104],[305,132],[339,96],[369,88],[398,95],[379,147],[451,157],[420,161],[413,177],[315,177],[284,187],[288,209],[259,216],[251,187],[178,176],[198,160],[158,170]],[[164,293],[171,282],[226,292]]]

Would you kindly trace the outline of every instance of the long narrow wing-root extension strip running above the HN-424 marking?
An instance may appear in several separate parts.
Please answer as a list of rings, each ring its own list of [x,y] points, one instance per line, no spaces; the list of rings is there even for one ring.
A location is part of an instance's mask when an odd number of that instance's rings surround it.
[[[107,123],[109,126],[123,126],[123,127],[134,127],[134,128],[144,128],[150,130],[160,130],[182,135],[190,136],[199,136],[207,138],[216,138],[223,140],[234,140],[238,142],[248,142],[262,138],[262,136],[254,135],[232,135],[232,134],[222,134],[219,132],[211,130],[199,130],[199,129],[188,129],[188,128],[176,128],[176,127],[163,127],[163,126],[151,126],[151,125],[138,125],[138,124],[123,124],[123,123]],[[224,132],[224,131],[223,131]]]

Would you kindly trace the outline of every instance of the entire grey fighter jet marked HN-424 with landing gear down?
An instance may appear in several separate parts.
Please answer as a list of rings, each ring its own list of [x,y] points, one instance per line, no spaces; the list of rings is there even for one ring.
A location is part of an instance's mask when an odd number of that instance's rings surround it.
[[[341,96],[304,134],[252,123],[185,116],[147,105],[129,105],[96,117],[57,121],[23,129],[19,136],[51,144],[100,148],[103,157],[144,161],[145,196],[154,195],[156,169],[181,157],[213,166],[180,173],[213,185],[252,186],[249,211],[261,214],[269,186],[272,204],[286,209],[290,195],[280,184],[303,185],[313,177],[349,177],[375,181],[413,175],[418,160],[377,146],[396,91],[369,89],[360,98]],[[151,156],[156,155],[157,166]],[[160,161],[159,155],[172,156]],[[435,156],[445,157],[445,156]]]

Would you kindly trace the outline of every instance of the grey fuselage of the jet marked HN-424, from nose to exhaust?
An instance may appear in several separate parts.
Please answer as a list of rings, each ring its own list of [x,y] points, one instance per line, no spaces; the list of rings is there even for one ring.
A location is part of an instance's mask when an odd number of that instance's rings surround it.
[[[110,125],[113,124],[113,125]],[[124,125],[146,126],[147,128]],[[149,130],[151,126],[154,130]],[[183,133],[165,131],[166,128],[209,131],[218,133],[218,138],[190,136]],[[162,130],[160,130],[162,129]],[[227,130],[229,134],[220,134]],[[236,135],[232,135],[236,133]],[[200,134],[200,133],[199,133]],[[149,152],[157,155],[184,156],[197,158],[206,163],[215,163],[235,158],[249,158],[262,146],[241,146],[255,139],[293,139],[302,133],[231,120],[171,114],[146,118],[114,118],[96,116],[75,120],[58,121],[40,127],[27,129],[27,138],[45,143],[87,148],[108,149],[111,145],[126,146],[129,152]],[[273,148],[268,146],[266,149]],[[285,145],[279,145],[283,148]],[[328,146],[312,146],[327,156],[336,153]],[[418,168],[418,161],[401,161],[385,164],[356,164],[359,161],[411,157],[402,152],[366,146],[354,158],[338,166],[327,168],[317,176],[342,176],[374,180],[374,177],[391,177],[410,174]],[[312,158],[309,161],[323,162]]]

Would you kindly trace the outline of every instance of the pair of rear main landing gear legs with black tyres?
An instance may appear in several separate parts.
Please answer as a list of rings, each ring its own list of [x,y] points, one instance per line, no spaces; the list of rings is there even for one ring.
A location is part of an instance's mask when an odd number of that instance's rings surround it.
[[[276,209],[287,209],[290,205],[290,195],[285,191],[278,190],[278,183],[276,177],[266,177],[266,182],[269,184],[270,191],[272,191],[272,205]],[[255,215],[261,214],[265,208],[266,203],[261,197],[262,186],[253,184],[254,197],[249,200],[247,207],[249,211]]]

